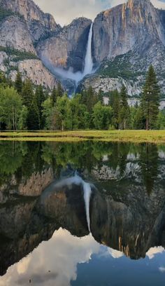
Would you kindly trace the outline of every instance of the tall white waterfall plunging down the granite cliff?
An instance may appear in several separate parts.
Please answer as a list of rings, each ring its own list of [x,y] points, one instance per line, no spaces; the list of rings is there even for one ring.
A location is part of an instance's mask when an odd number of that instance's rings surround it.
[[[93,22],[89,30],[89,36],[87,41],[87,53],[85,55],[85,68],[83,76],[85,76],[86,74],[92,74],[92,69],[94,65],[92,60],[92,34],[93,34]]]

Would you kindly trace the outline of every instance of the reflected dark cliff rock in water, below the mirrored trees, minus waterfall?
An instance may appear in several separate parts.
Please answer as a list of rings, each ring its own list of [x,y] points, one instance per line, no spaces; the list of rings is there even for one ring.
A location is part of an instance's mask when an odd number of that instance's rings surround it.
[[[164,202],[163,187],[150,196],[144,186],[134,184],[129,186],[127,193],[115,197],[101,195],[93,189],[90,202],[92,236],[132,259],[145,257],[150,247],[165,246]],[[87,235],[82,184],[52,184],[40,198],[23,197],[13,204],[1,205],[1,275],[41,241],[50,239],[61,226],[74,236]]]

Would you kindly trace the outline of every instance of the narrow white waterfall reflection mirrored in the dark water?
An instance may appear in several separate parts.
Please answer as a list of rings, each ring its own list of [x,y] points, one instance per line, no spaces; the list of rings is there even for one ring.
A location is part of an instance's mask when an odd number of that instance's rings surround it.
[[[84,200],[85,200],[85,211],[87,217],[87,226],[90,232],[90,214],[89,214],[89,206],[90,206],[90,196],[91,196],[91,186],[89,183],[85,183],[83,181],[83,190],[84,190]]]

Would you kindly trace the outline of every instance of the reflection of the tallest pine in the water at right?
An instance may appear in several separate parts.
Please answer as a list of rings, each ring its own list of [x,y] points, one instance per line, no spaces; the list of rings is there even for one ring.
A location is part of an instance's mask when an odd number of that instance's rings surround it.
[[[155,180],[158,175],[158,149],[155,144],[141,144],[140,148],[140,165],[148,194],[152,192]]]

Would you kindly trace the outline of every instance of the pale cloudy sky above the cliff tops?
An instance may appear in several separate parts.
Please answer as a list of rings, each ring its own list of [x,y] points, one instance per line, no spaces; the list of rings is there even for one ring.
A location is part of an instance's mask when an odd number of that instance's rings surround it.
[[[145,1],[145,0],[144,0]],[[165,0],[151,0],[152,4],[158,8],[165,9]],[[94,19],[96,15],[122,4],[124,0],[34,0],[36,4],[45,12],[55,17],[55,21],[60,25],[68,25],[73,19],[86,17]]]

